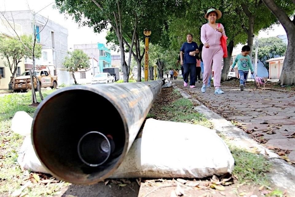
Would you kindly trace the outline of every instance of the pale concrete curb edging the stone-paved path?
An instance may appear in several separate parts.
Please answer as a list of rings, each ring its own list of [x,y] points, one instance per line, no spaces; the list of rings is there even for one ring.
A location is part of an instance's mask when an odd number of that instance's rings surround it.
[[[173,85],[173,88],[178,90],[184,98],[191,99],[199,105],[194,107],[196,111],[205,115],[205,117],[214,124],[214,129],[217,133],[221,133],[230,140],[230,144],[247,151],[259,151],[260,155],[269,159],[272,162],[273,169],[269,173],[270,181],[281,190],[287,190],[289,195],[295,194],[295,167],[289,165],[285,160],[280,159],[272,150],[262,146],[242,129],[234,126],[232,123],[224,119],[222,116],[211,111],[208,107],[200,103],[197,99],[187,94],[181,88]],[[265,154],[266,153],[266,154]],[[276,188],[274,188],[276,189]]]

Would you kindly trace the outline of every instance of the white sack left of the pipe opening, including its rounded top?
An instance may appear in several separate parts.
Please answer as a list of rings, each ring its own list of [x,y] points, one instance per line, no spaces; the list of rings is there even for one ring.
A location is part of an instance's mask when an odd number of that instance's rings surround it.
[[[33,118],[25,111],[17,111],[11,121],[11,130],[20,135],[26,136],[20,151],[18,152],[18,164],[26,170],[33,172],[49,173],[39,161],[35,154],[32,140],[31,127]]]

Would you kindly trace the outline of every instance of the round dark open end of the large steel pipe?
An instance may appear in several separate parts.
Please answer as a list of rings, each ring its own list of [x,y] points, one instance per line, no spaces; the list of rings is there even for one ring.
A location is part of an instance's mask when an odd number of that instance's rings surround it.
[[[33,144],[54,175],[87,183],[112,170],[128,138],[110,101],[88,89],[69,89],[39,107],[33,120]]]

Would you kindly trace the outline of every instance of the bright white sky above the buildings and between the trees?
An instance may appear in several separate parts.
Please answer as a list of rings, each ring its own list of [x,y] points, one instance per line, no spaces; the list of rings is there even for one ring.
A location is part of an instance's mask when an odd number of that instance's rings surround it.
[[[50,3],[52,4],[49,5]],[[0,0],[1,11],[29,10],[28,5],[31,10],[35,12],[41,10],[38,14],[49,17],[49,20],[57,22],[68,29],[68,49],[73,48],[74,44],[106,43],[106,30],[100,34],[96,34],[89,27],[79,27],[71,17],[66,19],[65,14],[60,14],[58,10],[52,8],[54,0]],[[274,25],[269,30],[261,32],[258,38],[282,34],[286,34],[283,27],[281,25]],[[117,54],[115,51],[111,51],[111,53]]]

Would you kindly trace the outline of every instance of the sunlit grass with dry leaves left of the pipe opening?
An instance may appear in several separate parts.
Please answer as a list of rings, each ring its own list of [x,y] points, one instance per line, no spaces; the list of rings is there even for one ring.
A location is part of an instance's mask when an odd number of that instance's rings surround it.
[[[45,98],[55,90],[42,90]],[[37,101],[41,102],[39,93],[36,92]],[[3,196],[10,196],[10,193],[19,189],[25,181],[22,179],[23,172],[17,162],[18,151],[23,143],[24,136],[11,131],[11,119],[17,111],[25,111],[31,117],[36,107],[29,106],[32,103],[31,91],[26,93],[11,93],[0,97],[0,193]],[[26,188],[23,192],[26,196],[49,196],[60,191],[65,183],[52,183],[46,187],[44,184],[33,184],[33,187]],[[51,192],[50,192],[50,191]],[[48,193],[47,193],[48,192]]]

